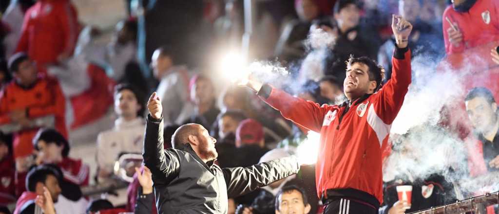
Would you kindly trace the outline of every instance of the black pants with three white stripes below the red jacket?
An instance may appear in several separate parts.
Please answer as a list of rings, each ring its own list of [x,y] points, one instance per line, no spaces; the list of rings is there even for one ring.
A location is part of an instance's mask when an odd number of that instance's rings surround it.
[[[324,214],[378,214],[378,210],[365,202],[352,199],[334,199],[328,202]]]

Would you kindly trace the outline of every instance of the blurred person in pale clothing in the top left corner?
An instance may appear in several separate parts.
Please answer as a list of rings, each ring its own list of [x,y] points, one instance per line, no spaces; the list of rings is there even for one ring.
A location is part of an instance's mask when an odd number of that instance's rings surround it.
[[[21,36],[22,21],[24,13],[35,3],[35,0],[10,0],[5,13],[1,16],[1,21],[4,22],[10,29],[9,33],[3,39],[5,47],[5,57],[12,56],[15,46]]]

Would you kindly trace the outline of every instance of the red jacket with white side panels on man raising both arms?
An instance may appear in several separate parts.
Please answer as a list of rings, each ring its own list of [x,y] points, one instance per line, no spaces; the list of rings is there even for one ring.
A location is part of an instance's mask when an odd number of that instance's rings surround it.
[[[402,56],[400,56],[402,55]],[[383,202],[382,151],[411,83],[411,53],[393,58],[392,78],[383,88],[347,105],[319,106],[272,89],[270,106],[293,122],[320,133],[315,180],[319,197],[329,189],[352,188]]]

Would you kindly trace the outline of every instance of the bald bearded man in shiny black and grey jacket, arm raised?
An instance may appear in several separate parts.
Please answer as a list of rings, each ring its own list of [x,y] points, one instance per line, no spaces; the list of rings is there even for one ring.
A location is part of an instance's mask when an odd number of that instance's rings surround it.
[[[179,127],[171,149],[163,149],[162,105],[156,93],[149,98],[144,164],[152,172],[159,214],[227,214],[228,198],[295,174],[299,164],[287,157],[243,168],[220,168],[217,140],[200,124]]]

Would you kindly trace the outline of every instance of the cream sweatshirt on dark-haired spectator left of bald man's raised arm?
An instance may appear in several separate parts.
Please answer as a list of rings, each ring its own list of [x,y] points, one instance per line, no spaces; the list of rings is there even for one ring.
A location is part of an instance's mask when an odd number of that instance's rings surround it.
[[[145,122],[142,117],[132,121],[117,119],[114,128],[97,136],[97,164],[101,169],[113,171],[114,162],[121,153],[142,153]]]

